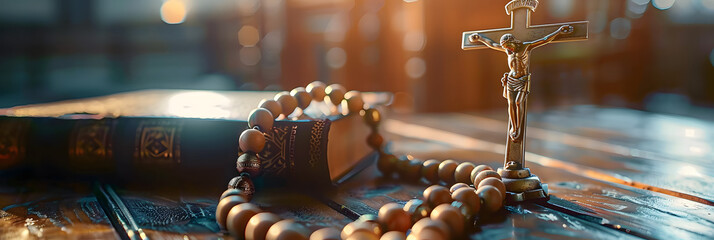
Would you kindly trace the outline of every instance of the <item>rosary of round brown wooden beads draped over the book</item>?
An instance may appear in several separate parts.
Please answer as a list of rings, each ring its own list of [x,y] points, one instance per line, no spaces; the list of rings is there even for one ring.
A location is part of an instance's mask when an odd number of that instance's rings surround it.
[[[326,97],[327,96],[327,97]],[[257,154],[265,147],[263,133],[273,127],[275,119],[287,119],[296,108],[307,108],[312,100],[342,105],[343,114],[360,114],[372,133],[367,144],[379,152],[377,168],[385,176],[401,179],[424,179],[433,185],[423,192],[423,199],[412,199],[404,207],[389,203],[377,216],[367,214],[347,224],[342,231],[323,228],[313,233],[303,225],[278,215],[263,212],[250,203],[255,192],[251,176],[260,174]],[[265,99],[248,117],[249,129],[243,131],[238,145],[242,154],[236,162],[239,176],[231,179],[216,207],[216,221],[223,230],[238,239],[460,239],[468,232],[479,214],[492,214],[503,207],[506,186],[493,168],[454,160],[420,161],[398,158],[383,150],[384,139],[378,132],[381,114],[374,108],[364,109],[364,100],[357,91],[347,92],[339,84],[325,86],[312,82],[306,88]],[[473,185],[471,185],[473,184]],[[411,231],[409,231],[411,229]],[[406,233],[409,232],[407,237]]]

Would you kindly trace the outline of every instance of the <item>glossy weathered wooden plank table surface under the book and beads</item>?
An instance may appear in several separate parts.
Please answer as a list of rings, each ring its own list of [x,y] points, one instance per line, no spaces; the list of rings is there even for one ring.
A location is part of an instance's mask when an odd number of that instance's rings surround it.
[[[390,116],[382,132],[397,154],[502,165],[505,113]],[[713,239],[714,124],[628,109],[577,106],[530,113],[528,167],[549,186],[548,203],[509,206],[482,217],[471,239]],[[336,189],[261,190],[263,209],[311,229],[341,228],[389,202],[420,197],[424,182],[382,177],[370,167]],[[110,224],[105,189],[65,183],[3,183],[0,239],[226,238],[215,223],[220,192],[118,190],[132,219]],[[111,189],[111,187],[109,187]],[[111,190],[109,190],[111,191]],[[111,194],[110,194],[111,195]]]

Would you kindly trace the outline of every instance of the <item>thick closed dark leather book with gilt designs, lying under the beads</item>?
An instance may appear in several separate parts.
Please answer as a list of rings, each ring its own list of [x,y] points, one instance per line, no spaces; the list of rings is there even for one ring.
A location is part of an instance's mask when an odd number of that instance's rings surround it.
[[[19,177],[120,185],[226,186],[238,137],[276,92],[148,90],[0,110],[0,169]],[[365,93],[380,105],[390,96]],[[291,116],[300,116],[296,110]],[[313,101],[265,133],[258,184],[329,186],[375,159],[359,114]]]

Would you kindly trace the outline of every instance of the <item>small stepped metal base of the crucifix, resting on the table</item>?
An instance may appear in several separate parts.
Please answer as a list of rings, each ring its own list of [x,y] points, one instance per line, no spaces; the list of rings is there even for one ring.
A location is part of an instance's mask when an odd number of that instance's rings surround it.
[[[538,176],[528,168],[509,170],[498,169],[503,184],[506,185],[506,204],[516,205],[530,201],[548,201],[548,184],[541,183]]]

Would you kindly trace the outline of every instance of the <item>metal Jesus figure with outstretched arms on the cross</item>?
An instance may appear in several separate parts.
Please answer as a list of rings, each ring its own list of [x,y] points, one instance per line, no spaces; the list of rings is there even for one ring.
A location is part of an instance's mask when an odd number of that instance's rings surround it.
[[[521,127],[525,121],[526,112],[523,105],[530,91],[531,75],[528,66],[530,65],[531,51],[552,42],[560,34],[572,32],[572,26],[563,25],[555,32],[531,42],[521,42],[513,34],[507,33],[501,37],[500,44],[479,33],[469,36],[469,41],[472,43],[481,42],[491,49],[505,52],[508,55],[508,68],[511,71],[503,74],[501,85],[503,85],[503,97],[508,99],[508,117],[511,125],[508,135],[513,141],[516,141],[520,136]]]

